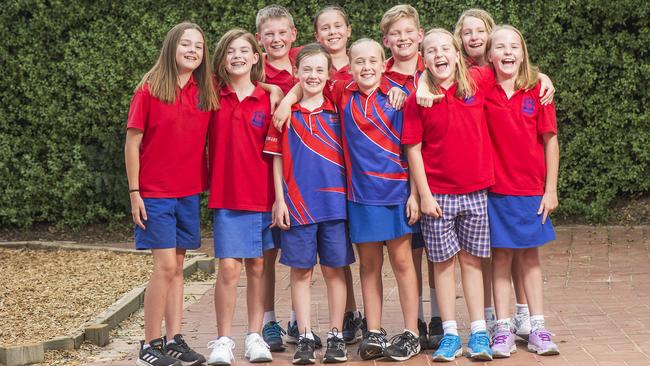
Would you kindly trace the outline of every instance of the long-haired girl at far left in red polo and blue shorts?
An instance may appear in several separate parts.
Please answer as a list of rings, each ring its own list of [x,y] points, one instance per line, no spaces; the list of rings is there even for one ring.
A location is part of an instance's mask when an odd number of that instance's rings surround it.
[[[138,84],[127,121],[125,162],[137,249],[150,249],[145,340],[138,365],[196,365],[205,358],[179,334],[183,260],[201,245],[199,194],[207,187],[205,141],[218,107],[203,31],[181,23]],[[165,319],[166,344],[161,336]]]

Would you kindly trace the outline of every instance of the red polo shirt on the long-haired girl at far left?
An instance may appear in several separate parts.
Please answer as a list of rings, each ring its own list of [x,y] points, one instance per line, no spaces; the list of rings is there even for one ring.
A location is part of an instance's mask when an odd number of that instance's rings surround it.
[[[199,87],[190,80],[177,88],[174,103],[164,103],[138,89],[131,100],[126,128],[143,132],[140,144],[140,195],[145,198],[177,198],[207,188],[205,138],[209,111],[201,111]]]

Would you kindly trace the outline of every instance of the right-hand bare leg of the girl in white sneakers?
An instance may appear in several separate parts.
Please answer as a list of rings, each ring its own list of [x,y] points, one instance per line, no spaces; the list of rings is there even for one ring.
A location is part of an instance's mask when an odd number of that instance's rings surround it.
[[[264,290],[262,289],[264,258],[246,258],[246,304],[248,305],[248,332],[262,331],[264,316]]]

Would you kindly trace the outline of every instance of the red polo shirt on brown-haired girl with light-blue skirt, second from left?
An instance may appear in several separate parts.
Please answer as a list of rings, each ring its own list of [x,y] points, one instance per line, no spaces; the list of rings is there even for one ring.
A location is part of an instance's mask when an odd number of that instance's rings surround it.
[[[262,153],[271,123],[269,94],[257,86],[241,102],[229,87],[209,131],[209,208],[271,211],[273,158]]]

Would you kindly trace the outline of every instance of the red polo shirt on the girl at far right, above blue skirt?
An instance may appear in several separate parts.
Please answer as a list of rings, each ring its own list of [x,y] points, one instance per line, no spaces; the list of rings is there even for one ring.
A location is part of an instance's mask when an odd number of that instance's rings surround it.
[[[496,183],[491,192],[540,196],[546,183],[544,133],[557,134],[555,105],[542,105],[540,85],[520,89],[509,99],[496,84],[485,100],[485,113],[494,152]]]

